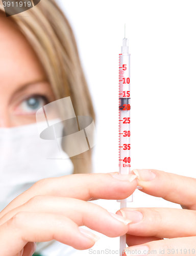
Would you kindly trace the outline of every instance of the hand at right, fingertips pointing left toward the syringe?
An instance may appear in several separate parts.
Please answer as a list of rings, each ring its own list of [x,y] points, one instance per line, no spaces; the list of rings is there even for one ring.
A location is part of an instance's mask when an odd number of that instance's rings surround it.
[[[130,247],[126,248],[125,255],[131,255],[129,251],[136,249],[137,254],[140,250],[140,255],[148,254],[148,250],[150,255],[195,254],[196,179],[154,169],[133,172],[138,175],[138,185],[143,187],[141,191],[181,204],[183,209],[123,208],[117,211],[133,221],[127,232]]]

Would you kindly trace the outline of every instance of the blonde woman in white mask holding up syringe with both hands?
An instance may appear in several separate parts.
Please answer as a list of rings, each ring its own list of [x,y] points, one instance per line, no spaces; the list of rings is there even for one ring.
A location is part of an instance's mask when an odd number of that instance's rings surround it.
[[[2,4],[1,10],[0,124],[3,130],[0,134],[3,134],[1,145],[6,145],[1,148],[1,156],[5,156],[1,158],[5,167],[1,169],[1,182],[4,180],[1,183],[1,255],[32,255],[36,250],[35,242],[40,242],[37,252],[43,256],[70,255],[68,246],[90,248],[99,238],[79,228],[82,225],[109,237],[127,233],[129,250],[137,250],[137,254],[151,254],[153,250],[156,250],[154,254],[179,254],[177,249],[182,249],[181,254],[186,253],[184,249],[193,253],[195,179],[144,169],[133,170],[136,175],[63,176],[71,172],[70,162],[64,164],[66,169],[61,175],[56,170],[52,175],[50,166],[44,173],[40,168],[42,162],[31,170],[38,155],[30,158],[31,154],[25,155],[26,151],[28,147],[34,151],[39,148],[31,144],[33,140],[30,144],[25,143],[29,137],[37,138],[33,134],[35,112],[41,106],[70,96],[77,115],[94,117],[94,114],[74,36],[56,3],[41,0],[36,7],[26,11],[27,17],[6,17]],[[20,143],[15,142],[16,138]],[[12,152],[14,146],[15,152]],[[22,153],[31,160],[29,165],[20,165],[26,161],[22,155],[19,161],[18,158],[13,160],[22,147]],[[80,158],[83,159],[71,159],[75,173],[89,173],[90,151]],[[40,173],[47,176],[37,182],[31,180]],[[28,178],[28,182],[23,177]],[[137,183],[144,193],[181,204],[186,209],[125,208],[115,215],[87,202],[97,198],[127,198]],[[4,201],[6,196],[15,199],[8,204]],[[46,241],[49,243],[43,245]],[[60,243],[64,244],[62,248]],[[125,254],[130,254],[128,249]]]

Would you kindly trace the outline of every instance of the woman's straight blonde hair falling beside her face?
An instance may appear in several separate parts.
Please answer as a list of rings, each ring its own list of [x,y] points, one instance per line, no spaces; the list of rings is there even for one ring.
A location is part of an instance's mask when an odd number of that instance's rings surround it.
[[[0,2],[0,10],[4,7]],[[12,12],[12,13],[11,13]],[[10,15],[14,8],[10,10]],[[45,70],[56,99],[70,96],[76,116],[94,111],[87,83],[81,67],[77,45],[71,27],[55,0],[41,0],[35,7],[11,17],[27,38]],[[25,16],[27,15],[27,16]],[[74,173],[91,172],[89,150],[71,157]]]

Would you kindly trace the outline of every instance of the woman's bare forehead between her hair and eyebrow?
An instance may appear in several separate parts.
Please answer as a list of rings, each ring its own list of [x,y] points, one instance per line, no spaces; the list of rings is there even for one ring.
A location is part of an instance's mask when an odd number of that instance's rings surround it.
[[[10,18],[0,15],[0,25],[0,87],[9,85],[17,89],[35,79],[42,79],[43,69],[24,35]]]

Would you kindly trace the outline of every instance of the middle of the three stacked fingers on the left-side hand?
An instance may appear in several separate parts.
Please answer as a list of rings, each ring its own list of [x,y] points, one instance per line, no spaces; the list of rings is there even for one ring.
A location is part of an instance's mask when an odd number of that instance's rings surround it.
[[[108,237],[119,237],[127,233],[129,223],[119,215],[110,214],[99,205],[73,198],[36,196],[27,203],[14,208],[4,215],[0,225],[11,219],[17,212],[30,211],[65,216],[79,226],[87,226]]]

